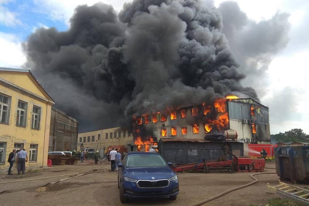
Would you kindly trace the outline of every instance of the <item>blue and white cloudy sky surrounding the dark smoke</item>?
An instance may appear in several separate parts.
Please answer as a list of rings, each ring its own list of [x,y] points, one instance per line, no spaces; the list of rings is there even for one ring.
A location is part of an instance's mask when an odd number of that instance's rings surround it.
[[[55,27],[66,31],[77,5],[92,5],[97,0],[0,0],[0,67],[23,68],[26,57],[21,44],[37,28]],[[124,0],[104,0],[116,11],[121,11]],[[213,3],[220,7],[222,0]],[[261,75],[244,70],[248,78],[244,86],[256,89],[260,102],[269,106],[271,134],[301,128],[309,133],[309,1],[235,0],[251,24],[259,25],[276,14],[286,12],[290,29],[286,32],[287,44],[269,58]],[[207,3],[207,2],[205,2]],[[224,30],[224,29],[223,29]],[[246,28],[243,28],[245,31]],[[226,31],[227,33],[229,31]],[[273,32],[271,29],[269,32]],[[235,39],[228,40],[237,57]],[[237,41],[241,41],[237,39]],[[235,44],[234,44],[235,45]],[[249,46],[249,45],[248,45]],[[240,57],[239,57],[240,58]],[[259,62],[258,62],[259,63]],[[262,67],[261,67],[262,68]]]

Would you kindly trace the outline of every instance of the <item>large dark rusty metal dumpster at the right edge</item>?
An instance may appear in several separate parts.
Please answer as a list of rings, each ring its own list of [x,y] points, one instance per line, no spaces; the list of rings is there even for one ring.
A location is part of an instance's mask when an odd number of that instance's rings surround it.
[[[309,180],[309,146],[274,148],[276,172],[280,179]]]

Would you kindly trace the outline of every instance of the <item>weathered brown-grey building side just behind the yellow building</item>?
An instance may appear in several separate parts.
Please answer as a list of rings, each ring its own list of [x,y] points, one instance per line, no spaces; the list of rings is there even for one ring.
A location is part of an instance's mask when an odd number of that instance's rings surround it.
[[[74,151],[78,144],[78,121],[52,107],[48,151]]]

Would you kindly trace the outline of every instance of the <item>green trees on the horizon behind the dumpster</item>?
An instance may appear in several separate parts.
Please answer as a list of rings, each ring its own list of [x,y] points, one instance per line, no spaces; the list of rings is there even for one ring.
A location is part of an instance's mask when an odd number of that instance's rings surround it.
[[[309,142],[309,135],[303,132],[302,129],[292,129],[290,131],[286,131],[284,133],[279,132],[279,134],[270,135],[270,139],[272,143],[283,142]]]

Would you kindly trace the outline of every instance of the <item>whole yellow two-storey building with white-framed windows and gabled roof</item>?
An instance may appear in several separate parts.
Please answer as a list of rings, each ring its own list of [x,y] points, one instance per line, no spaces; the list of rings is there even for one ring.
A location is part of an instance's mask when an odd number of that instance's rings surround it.
[[[30,70],[0,67],[0,170],[14,148],[26,149],[26,167],[47,164],[54,104]]]

